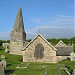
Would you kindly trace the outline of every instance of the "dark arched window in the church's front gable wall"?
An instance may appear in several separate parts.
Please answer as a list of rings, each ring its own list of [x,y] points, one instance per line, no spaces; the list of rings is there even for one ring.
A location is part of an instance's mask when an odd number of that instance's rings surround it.
[[[43,45],[41,43],[38,43],[35,46],[34,57],[37,59],[43,58],[43,51],[44,51]]]

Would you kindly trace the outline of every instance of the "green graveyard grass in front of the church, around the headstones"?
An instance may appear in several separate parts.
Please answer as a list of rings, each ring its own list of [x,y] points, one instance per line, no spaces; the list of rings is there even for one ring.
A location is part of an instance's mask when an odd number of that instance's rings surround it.
[[[45,75],[45,71],[48,72],[48,75],[59,75],[57,64],[22,62],[22,56],[5,53],[4,49],[0,49],[0,55],[5,55],[6,57],[5,59],[7,61],[7,67],[5,68],[6,75]],[[16,68],[21,63],[23,63],[22,66],[26,66],[28,63],[30,63],[30,65],[28,68],[22,69]],[[64,68],[64,65],[70,66],[72,69],[75,68],[75,62],[71,62],[70,60],[63,60],[58,64],[62,68]],[[44,68],[42,66],[44,66]],[[62,75],[67,75],[63,69],[61,69],[60,72],[62,73]]]

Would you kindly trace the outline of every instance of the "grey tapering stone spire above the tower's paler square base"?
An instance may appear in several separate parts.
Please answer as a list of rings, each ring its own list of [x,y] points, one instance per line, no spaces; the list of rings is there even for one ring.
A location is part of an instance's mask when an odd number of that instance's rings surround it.
[[[14,24],[14,29],[11,32],[11,41],[25,41],[25,40],[26,40],[26,33],[24,30],[22,8],[19,8]]]

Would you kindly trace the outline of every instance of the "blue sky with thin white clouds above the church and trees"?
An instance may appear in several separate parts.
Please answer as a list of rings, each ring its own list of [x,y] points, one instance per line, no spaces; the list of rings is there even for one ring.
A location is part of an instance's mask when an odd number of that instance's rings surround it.
[[[74,37],[74,3],[74,0],[0,0],[0,40],[10,39],[20,7],[27,39],[38,33],[46,39]]]

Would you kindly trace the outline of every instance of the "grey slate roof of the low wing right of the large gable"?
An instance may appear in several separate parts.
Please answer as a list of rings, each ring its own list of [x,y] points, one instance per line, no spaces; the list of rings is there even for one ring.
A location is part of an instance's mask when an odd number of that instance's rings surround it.
[[[67,47],[55,47],[57,49],[56,55],[57,56],[70,56],[70,53],[73,51],[71,46]]]

